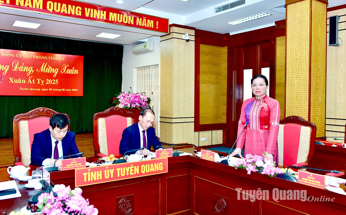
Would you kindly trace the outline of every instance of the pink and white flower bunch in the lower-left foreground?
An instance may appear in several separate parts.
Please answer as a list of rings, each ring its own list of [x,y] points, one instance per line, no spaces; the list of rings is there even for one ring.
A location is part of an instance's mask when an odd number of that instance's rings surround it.
[[[70,186],[65,187],[63,184],[55,185],[51,193],[42,193],[38,197],[36,206],[37,211],[42,211],[48,215],[97,215],[97,208],[89,205],[88,199],[84,199],[82,189],[79,187],[70,189]]]

